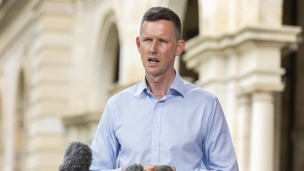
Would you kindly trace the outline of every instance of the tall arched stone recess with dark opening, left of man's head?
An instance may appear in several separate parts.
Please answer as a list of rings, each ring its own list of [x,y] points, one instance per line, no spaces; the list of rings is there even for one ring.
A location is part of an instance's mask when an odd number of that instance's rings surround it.
[[[93,60],[94,100],[99,109],[103,109],[109,99],[109,89],[119,81],[120,41],[115,14],[107,12],[100,29],[96,56]]]

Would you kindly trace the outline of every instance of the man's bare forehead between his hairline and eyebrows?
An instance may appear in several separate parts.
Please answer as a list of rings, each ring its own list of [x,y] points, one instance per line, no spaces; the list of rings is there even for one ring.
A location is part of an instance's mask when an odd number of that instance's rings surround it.
[[[174,37],[174,26],[168,20],[144,21],[141,34],[143,36]]]

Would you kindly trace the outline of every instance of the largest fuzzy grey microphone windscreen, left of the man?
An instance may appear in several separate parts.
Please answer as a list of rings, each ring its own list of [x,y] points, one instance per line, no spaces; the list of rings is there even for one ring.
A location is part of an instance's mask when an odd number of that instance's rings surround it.
[[[65,149],[59,171],[88,171],[92,164],[92,150],[88,144],[75,141]]]

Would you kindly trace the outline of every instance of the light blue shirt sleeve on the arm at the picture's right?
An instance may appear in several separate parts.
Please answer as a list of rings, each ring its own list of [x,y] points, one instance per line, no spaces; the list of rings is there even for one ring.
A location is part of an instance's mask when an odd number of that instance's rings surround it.
[[[206,165],[207,170],[239,171],[228,124],[217,98],[213,100],[209,109],[203,153],[202,162]],[[193,170],[178,166],[175,166],[175,169],[176,171],[206,171],[200,168]]]

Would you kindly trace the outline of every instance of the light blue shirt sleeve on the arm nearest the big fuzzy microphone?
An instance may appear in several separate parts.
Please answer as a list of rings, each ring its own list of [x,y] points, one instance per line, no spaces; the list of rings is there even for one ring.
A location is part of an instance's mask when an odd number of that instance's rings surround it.
[[[123,168],[113,169],[119,153],[120,144],[115,136],[115,116],[111,113],[109,102],[105,106],[92,141],[93,161],[92,171],[120,171]]]

